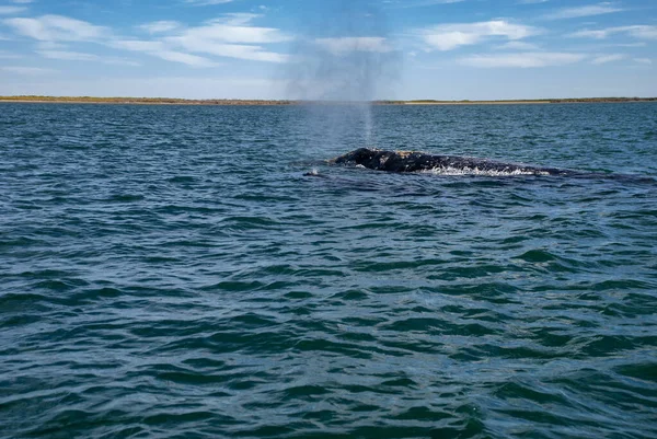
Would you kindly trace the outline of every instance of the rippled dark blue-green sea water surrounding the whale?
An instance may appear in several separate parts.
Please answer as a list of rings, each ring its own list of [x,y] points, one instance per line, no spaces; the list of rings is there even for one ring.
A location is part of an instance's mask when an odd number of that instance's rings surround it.
[[[0,437],[656,438],[657,184],[366,116],[0,105]],[[372,116],[657,175],[656,104]]]

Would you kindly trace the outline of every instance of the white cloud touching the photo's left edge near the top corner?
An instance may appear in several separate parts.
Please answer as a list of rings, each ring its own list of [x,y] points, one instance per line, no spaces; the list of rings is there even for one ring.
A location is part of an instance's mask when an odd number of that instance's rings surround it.
[[[108,30],[88,22],[62,15],[43,15],[37,19],[8,19],[4,24],[18,34],[43,42],[95,41],[108,34]]]

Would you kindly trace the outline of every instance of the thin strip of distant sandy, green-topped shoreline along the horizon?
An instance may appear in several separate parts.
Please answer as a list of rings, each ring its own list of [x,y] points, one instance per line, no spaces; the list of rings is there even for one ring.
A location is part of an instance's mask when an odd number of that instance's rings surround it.
[[[372,101],[373,105],[522,105],[522,104],[570,104],[570,103],[627,103],[657,102],[657,97],[569,97],[545,100],[499,101]],[[268,100],[185,100],[170,97],[93,97],[93,96],[0,96],[0,103],[38,104],[120,104],[120,105],[322,105],[358,104],[359,102],[331,101],[268,101]]]

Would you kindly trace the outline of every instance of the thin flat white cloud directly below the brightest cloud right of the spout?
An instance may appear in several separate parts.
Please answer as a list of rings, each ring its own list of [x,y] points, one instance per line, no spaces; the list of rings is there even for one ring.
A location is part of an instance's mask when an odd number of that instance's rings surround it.
[[[480,68],[534,68],[564,66],[578,62],[584,58],[586,58],[586,56],[581,54],[528,51],[503,55],[473,55],[460,58],[458,62],[462,66]]]

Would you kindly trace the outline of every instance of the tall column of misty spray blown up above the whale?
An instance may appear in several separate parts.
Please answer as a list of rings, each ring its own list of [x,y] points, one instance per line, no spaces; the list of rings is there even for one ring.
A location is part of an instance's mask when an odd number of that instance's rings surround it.
[[[308,104],[311,151],[373,146],[372,101],[393,95],[401,57],[381,9],[365,0],[326,3],[301,16],[288,95]]]

